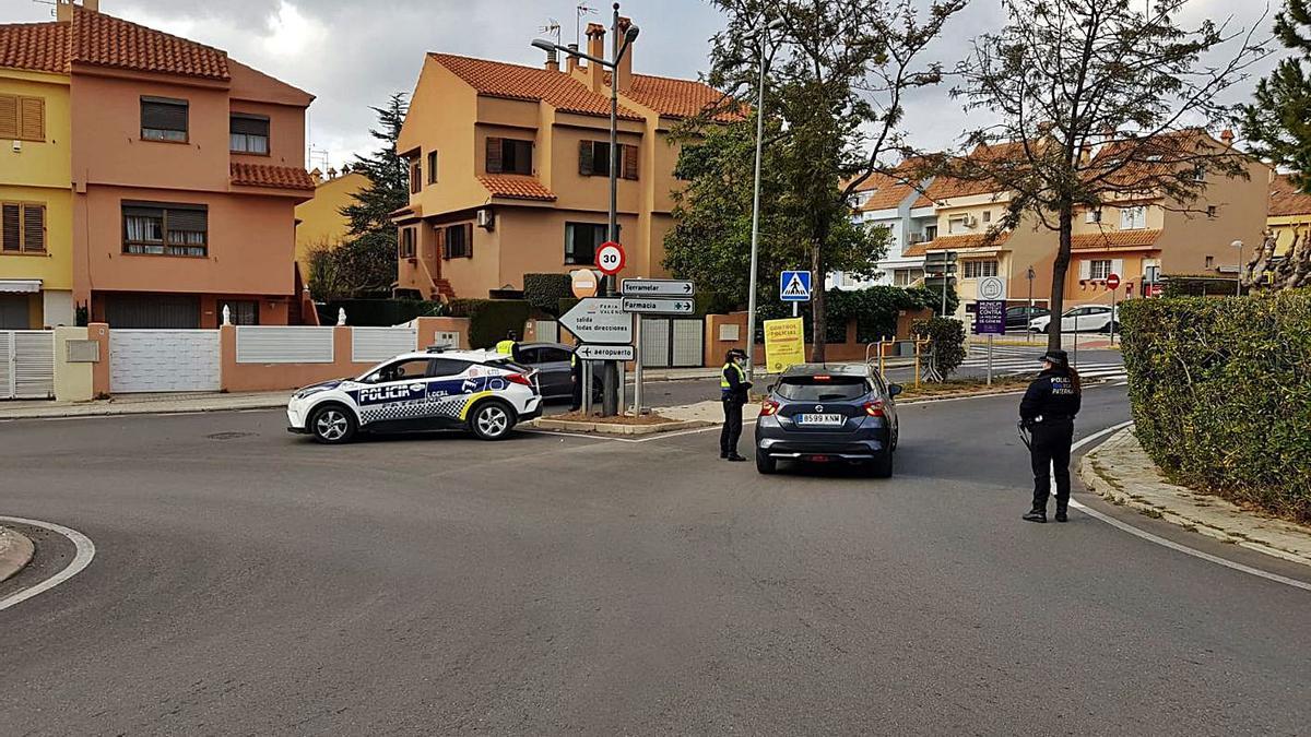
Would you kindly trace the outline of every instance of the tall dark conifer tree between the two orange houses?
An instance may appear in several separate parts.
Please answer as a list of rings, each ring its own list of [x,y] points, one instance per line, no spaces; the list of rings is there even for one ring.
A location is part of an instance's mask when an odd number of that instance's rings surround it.
[[[405,123],[405,94],[395,93],[368,131],[383,146],[370,156],[355,156],[354,170],[368,177],[354,203],[341,209],[350,235],[333,250],[336,278],[347,294],[387,291],[396,281],[396,226],[391,214],[409,203],[409,167],[396,152]]]

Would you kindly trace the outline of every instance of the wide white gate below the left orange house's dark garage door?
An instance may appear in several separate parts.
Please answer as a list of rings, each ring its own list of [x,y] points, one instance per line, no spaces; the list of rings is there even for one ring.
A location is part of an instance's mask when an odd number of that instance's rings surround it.
[[[113,330],[109,391],[219,391],[219,332]]]

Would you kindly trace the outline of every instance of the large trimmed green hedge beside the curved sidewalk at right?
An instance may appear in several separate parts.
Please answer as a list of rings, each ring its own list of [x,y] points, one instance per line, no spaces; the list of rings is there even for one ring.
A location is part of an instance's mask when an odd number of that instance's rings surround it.
[[[1176,483],[1311,522],[1311,294],[1121,307],[1139,441]]]

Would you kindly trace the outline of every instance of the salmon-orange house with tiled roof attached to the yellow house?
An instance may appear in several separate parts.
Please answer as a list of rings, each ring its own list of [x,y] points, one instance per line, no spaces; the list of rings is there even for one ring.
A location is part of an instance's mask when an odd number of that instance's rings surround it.
[[[69,77],[73,302],[118,328],[298,323],[313,97],[98,5],[59,0],[29,50]]]

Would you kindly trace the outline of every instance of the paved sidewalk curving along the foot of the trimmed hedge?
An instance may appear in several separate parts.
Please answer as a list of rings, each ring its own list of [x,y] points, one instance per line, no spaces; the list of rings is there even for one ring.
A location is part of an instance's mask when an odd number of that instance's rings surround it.
[[[1112,504],[1226,543],[1311,565],[1311,527],[1264,517],[1221,497],[1171,484],[1138,445],[1133,428],[1087,452],[1079,462],[1079,477]]]

